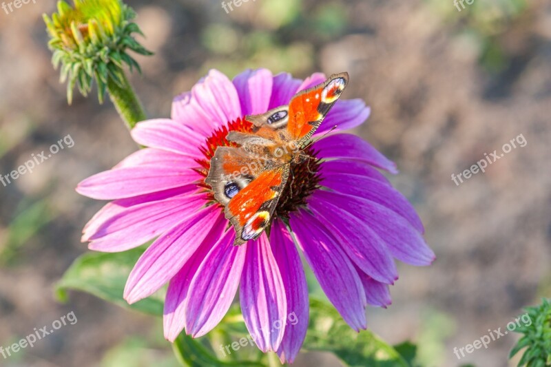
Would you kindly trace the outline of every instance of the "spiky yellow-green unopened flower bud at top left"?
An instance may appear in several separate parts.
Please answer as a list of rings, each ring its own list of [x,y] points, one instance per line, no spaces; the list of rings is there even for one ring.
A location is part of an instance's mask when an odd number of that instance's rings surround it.
[[[67,83],[67,100],[78,83],[86,96],[92,90],[92,80],[98,84],[98,98],[103,101],[110,79],[123,85],[123,64],[140,69],[127,50],[150,55],[133,34],[142,34],[132,19],[134,10],[120,0],[74,0],[74,8],[65,1],[57,3],[58,12],[43,19],[50,34],[52,63],[61,63],[61,82]]]

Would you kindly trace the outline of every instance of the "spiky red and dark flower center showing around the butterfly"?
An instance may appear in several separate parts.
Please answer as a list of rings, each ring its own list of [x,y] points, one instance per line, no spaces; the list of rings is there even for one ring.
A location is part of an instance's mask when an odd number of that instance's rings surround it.
[[[232,121],[227,126],[216,129],[213,134],[205,140],[205,143],[200,147],[200,151],[205,158],[198,159],[196,162],[200,165],[196,171],[203,176],[198,186],[207,191],[207,200],[212,204],[220,205],[214,198],[214,192],[211,187],[205,183],[205,178],[209,174],[211,167],[211,158],[214,157],[214,152],[218,147],[237,147],[236,143],[227,140],[229,132],[252,132],[253,125],[244,118],[238,118]],[[300,163],[291,163],[291,171],[287,185],[283,189],[278,202],[278,207],[275,209],[275,215],[280,218],[289,218],[291,211],[296,211],[300,207],[306,205],[306,199],[320,187],[320,160],[315,158],[315,151],[311,148],[306,148],[303,151],[310,158]],[[220,205],[221,207],[221,205]]]

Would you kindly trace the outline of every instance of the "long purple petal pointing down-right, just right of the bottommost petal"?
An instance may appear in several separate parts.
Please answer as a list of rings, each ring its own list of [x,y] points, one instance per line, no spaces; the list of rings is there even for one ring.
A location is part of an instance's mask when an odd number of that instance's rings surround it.
[[[366,328],[366,294],[339,242],[307,211],[291,213],[290,223],[306,262],[344,321],[355,331]]]

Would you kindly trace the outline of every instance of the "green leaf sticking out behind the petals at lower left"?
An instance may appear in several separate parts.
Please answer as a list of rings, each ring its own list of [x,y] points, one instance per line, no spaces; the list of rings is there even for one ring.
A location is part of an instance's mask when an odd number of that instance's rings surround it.
[[[135,304],[123,299],[127,277],[145,251],[138,247],[121,253],[85,253],[77,258],[56,284],[59,300],[67,300],[67,291],[83,291],[125,308],[152,315],[163,315],[163,297],[152,295]]]

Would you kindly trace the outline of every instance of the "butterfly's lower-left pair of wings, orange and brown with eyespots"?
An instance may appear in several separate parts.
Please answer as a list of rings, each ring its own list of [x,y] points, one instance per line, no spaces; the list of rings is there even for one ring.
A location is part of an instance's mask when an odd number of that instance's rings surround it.
[[[211,159],[205,182],[225,207],[225,216],[236,229],[233,244],[255,240],[271,222],[280,194],[289,177],[289,165],[251,156],[234,147],[219,147]]]

